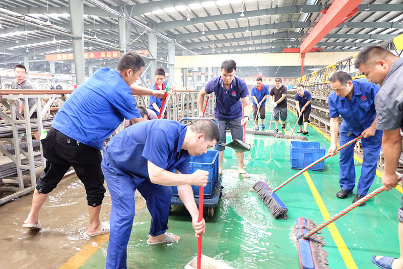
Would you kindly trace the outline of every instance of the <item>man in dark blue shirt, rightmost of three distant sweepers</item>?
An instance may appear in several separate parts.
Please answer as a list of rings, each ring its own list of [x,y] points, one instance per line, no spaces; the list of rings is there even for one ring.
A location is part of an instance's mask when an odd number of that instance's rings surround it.
[[[311,100],[312,95],[309,91],[304,90],[304,85],[297,85],[297,93],[294,96],[295,105],[298,112],[298,125],[299,131],[297,133],[309,134],[306,128],[308,128],[309,115],[311,114]],[[304,120],[304,130],[302,131],[302,120]]]

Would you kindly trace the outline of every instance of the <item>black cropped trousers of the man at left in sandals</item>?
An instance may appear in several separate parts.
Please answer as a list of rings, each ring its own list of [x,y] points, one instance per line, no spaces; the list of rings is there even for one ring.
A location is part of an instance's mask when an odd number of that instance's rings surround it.
[[[102,204],[104,175],[101,169],[102,155],[99,149],[90,147],[65,134],[50,128],[41,140],[46,167],[37,182],[39,193],[49,193],[73,166],[78,178],[83,182],[90,206]]]

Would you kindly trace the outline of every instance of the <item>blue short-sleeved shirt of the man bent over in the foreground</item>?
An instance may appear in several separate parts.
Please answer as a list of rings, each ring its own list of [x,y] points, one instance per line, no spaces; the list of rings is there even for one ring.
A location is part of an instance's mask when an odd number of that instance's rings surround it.
[[[147,161],[167,170],[189,174],[190,155],[181,149],[187,127],[170,120],[143,121],[115,135],[106,145],[119,169],[149,178]]]

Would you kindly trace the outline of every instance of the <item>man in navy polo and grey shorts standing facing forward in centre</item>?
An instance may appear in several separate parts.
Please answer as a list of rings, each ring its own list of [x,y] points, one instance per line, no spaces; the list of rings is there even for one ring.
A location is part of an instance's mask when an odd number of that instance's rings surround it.
[[[230,126],[232,140],[243,141],[243,126],[246,127],[249,120],[250,103],[249,91],[246,83],[235,76],[236,63],[233,60],[224,61],[221,64],[221,76],[210,80],[198,93],[199,117],[203,117],[203,104],[205,95],[214,92],[216,95],[216,106],[214,117],[219,122],[220,141],[218,150],[219,165],[218,173],[223,173],[223,157],[225,147],[221,145],[226,142],[227,124]],[[241,100],[241,102],[239,101]],[[242,103],[242,104],[241,104]],[[242,118],[242,105],[244,105],[244,117]],[[247,118],[247,119],[246,119]],[[243,152],[236,152],[238,159],[238,173],[244,178],[250,177],[243,169]]]

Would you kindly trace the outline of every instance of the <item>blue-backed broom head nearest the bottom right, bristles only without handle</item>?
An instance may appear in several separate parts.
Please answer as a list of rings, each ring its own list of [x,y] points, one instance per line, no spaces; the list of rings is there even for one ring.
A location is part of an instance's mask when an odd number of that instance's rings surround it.
[[[307,234],[310,230],[317,225],[305,218],[297,218],[297,224],[295,226],[299,263],[302,269],[329,269],[327,266],[327,252],[323,249],[326,242],[323,241],[323,237],[313,234],[308,240],[299,238],[301,235]]]

